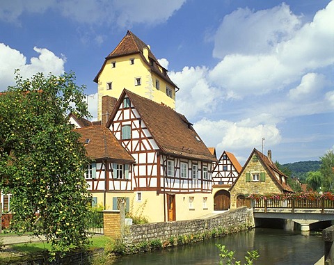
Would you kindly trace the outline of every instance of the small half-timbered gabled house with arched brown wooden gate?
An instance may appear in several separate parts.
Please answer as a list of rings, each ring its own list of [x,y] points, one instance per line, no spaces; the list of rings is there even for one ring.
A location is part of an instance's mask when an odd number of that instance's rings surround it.
[[[228,189],[241,172],[241,165],[234,154],[224,151],[212,172],[212,193],[214,194],[214,210],[230,209],[230,192]]]

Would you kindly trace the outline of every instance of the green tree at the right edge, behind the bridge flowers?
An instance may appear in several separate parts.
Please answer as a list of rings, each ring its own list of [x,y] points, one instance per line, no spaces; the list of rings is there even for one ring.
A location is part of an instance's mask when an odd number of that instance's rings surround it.
[[[333,150],[326,152],[324,156],[320,157],[321,165],[320,172],[322,175],[323,191],[334,191],[334,153]]]

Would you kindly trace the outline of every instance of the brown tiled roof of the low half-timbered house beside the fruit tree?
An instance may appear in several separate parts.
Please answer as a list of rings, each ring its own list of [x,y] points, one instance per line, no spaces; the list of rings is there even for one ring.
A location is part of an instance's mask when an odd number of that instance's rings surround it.
[[[74,129],[74,131],[81,134],[80,141],[84,143],[90,159],[114,159],[134,163],[134,158],[108,128],[97,125]]]

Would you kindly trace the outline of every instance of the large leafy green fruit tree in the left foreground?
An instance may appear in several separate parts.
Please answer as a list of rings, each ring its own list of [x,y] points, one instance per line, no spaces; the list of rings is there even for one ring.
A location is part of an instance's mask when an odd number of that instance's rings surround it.
[[[35,74],[0,95],[0,190],[10,193],[10,230],[51,242],[52,255],[89,243],[84,179],[88,163],[79,134],[67,120],[87,116],[84,87],[75,77]]]

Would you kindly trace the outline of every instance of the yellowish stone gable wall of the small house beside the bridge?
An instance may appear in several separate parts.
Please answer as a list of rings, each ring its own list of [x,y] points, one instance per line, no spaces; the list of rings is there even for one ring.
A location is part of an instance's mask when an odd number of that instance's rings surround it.
[[[250,182],[246,182],[246,173],[250,172]],[[253,182],[252,173],[253,172],[265,172],[266,179],[264,182]],[[249,163],[246,165],[246,168],[241,173],[239,179],[234,184],[231,189],[231,209],[237,207],[237,196],[245,195],[250,193],[281,193],[280,189],[273,182],[271,177],[267,174],[267,171],[264,169],[260,161],[253,161],[250,159]]]

